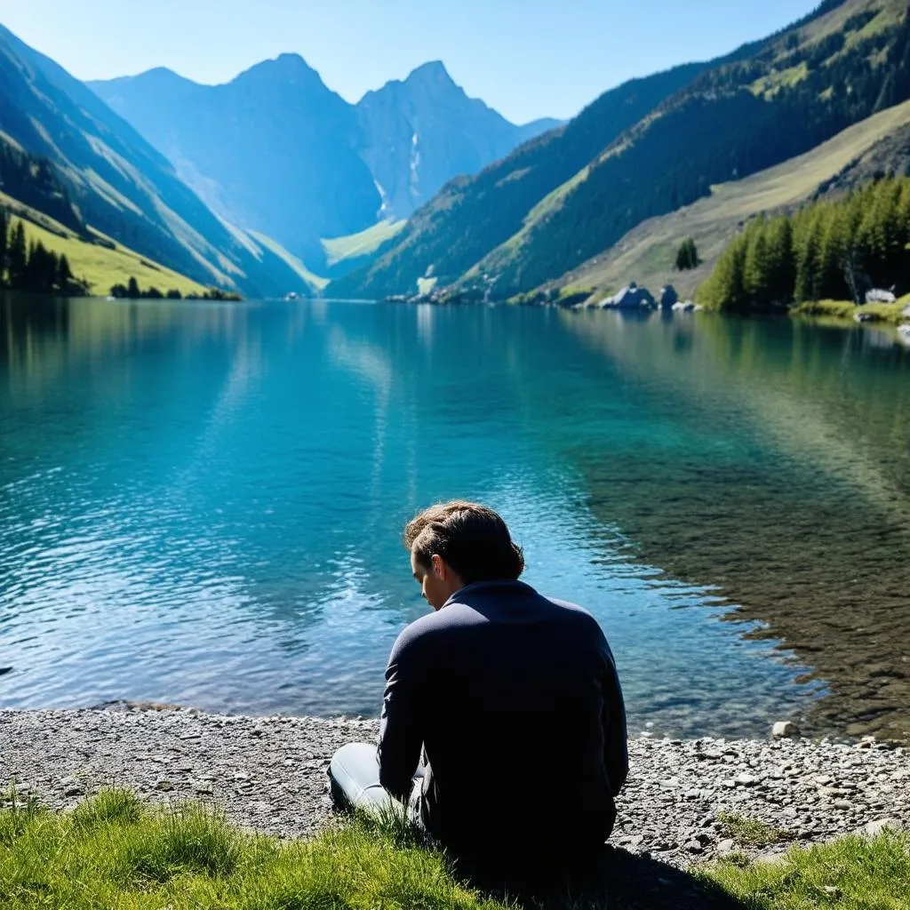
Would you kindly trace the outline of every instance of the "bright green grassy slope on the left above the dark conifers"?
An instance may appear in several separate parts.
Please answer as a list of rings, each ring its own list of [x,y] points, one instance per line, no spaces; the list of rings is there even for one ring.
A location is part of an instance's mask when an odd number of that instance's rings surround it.
[[[201,293],[206,289],[196,281],[143,258],[120,244],[108,249],[106,246],[87,243],[53,218],[22,205],[3,193],[0,193],[0,204],[22,219],[25,237],[29,242],[40,240],[56,254],[66,253],[73,274],[76,278],[86,278],[92,286],[91,292],[97,296],[105,297],[112,285],[126,284],[129,278],[136,278],[140,288],[154,286],[163,292],[176,288],[183,295]],[[97,236],[111,242],[103,235]]]

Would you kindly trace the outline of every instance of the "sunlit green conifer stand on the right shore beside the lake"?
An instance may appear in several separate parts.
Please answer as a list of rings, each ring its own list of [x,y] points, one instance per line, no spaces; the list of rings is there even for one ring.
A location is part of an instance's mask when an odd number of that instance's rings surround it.
[[[892,177],[790,216],[753,219],[699,290],[729,313],[910,290],[910,178]]]

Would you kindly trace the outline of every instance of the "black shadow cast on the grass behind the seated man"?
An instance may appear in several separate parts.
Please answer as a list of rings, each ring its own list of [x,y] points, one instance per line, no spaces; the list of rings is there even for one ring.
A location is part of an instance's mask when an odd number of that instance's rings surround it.
[[[521,910],[745,910],[746,905],[712,883],[649,856],[607,846],[566,874],[523,870],[495,876],[460,864],[461,884]]]

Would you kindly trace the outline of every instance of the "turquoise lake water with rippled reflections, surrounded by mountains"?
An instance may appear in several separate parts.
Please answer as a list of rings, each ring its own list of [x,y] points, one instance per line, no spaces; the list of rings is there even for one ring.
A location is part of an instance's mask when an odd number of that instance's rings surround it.
[[[0,706],[376,715],[401,528],[464,497],[600,620],[632,733],[896,735],[908,387],[788,321],[0,298]]]

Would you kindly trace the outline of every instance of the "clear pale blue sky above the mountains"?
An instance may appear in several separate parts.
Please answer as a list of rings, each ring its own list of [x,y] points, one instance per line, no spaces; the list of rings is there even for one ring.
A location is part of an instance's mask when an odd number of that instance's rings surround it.
[[[2,0],[0,22],[80,79],[168,66],[227,82],[292,51],[349,101],[427,60],[516,122],[724,54],[818,0]]]

